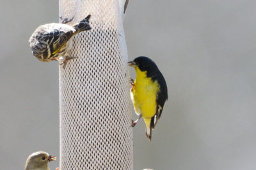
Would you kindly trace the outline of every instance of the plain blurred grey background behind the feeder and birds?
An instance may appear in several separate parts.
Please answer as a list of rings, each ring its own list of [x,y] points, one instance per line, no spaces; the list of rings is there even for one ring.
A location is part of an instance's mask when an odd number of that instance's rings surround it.
[[[152,143],[143,121],[133,129],[134,169],[256,169],[255,6],[130,0],[129,59],[156,61],[169,94]],[[34,151],[59,155],[58,63],[33,58],[28,43],[58,22],[58,1],[2,0],[0,16],[0,165],[23,169]]]

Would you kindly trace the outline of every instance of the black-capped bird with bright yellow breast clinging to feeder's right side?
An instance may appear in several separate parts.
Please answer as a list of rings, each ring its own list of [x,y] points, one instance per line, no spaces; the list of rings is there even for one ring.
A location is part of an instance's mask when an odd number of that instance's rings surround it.
[[[131,98],[134,110],[146,124],[146,136],[151,141],[152,129],[161,117],[164,102],[168,98],[165,79],[156,63],[147,57],[138,57],[128,63],[136,71],[132,81]],[[134,127],[137,121],[132,121]]]

